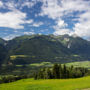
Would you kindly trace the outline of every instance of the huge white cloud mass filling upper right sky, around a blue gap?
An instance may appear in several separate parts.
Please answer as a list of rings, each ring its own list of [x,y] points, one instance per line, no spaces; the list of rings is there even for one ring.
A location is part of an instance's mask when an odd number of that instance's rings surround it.
[[[90,37],[90,0],[39,0],[43,2],[40,16],[48,16],[57,24],[54,26],[54,34],[77,34],[81,37]],[[77,14],[73,14],[77,12]],[[63,17],[75,16],[72,31],[66,26]],[[60,20],[60,21],[59,21]]]

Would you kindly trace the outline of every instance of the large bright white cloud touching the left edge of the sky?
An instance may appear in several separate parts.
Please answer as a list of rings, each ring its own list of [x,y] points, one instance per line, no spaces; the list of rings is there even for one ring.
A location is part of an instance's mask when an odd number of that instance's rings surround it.
[[[23,24],[32,22],[33,20],[26,20],[26,13],[18,10],[0,13],[0,27],[23,29]]]

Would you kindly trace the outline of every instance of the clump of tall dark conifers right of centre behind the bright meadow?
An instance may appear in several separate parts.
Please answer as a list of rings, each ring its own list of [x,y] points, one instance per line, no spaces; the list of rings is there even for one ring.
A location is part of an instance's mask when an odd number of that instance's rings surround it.
[[[42,68],[34,74],[34,79],[79,78],[88,72],[86,68],[54,64],[52,68]]]

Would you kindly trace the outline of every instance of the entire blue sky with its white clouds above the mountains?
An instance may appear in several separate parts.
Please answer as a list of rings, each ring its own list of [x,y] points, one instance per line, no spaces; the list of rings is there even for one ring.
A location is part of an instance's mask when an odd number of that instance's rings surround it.
[[[0,37],[32,34],[90,39],[90,0],[0,0]]]

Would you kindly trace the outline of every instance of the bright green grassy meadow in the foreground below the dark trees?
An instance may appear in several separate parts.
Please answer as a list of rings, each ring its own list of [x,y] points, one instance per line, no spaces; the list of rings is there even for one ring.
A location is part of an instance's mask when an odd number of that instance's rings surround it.
[[[88,88],[90,88],[90,76],[62,80],[22,79],[12,83],[0,84],[0,90],[83,90]]]

